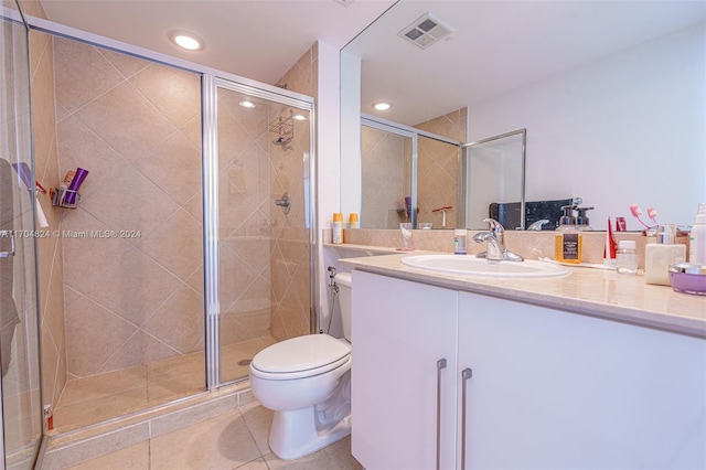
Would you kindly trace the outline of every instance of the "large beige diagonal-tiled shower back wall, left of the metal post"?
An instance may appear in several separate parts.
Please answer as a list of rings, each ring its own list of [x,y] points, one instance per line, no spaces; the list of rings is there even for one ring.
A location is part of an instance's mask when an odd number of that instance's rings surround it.
[[[200,77],[54,38],[68,378],[203,350]]]

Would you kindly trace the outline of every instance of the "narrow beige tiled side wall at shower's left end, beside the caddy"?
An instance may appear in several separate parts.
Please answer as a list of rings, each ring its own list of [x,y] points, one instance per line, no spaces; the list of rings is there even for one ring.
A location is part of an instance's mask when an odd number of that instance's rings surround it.
[[[28,14],[45,18],[39,2],[23,1],[22,8]],[[54,108],[54,53],[51,36],[36,31],[30,31],[30,74],[36,179],[46,189],[56,188],[60,169]],[[39,194],[38,197],[49,222],[49,227],[42,229],[52,233],[61,231],[62,210],[52,206],[49,195]],[[42,392],[44,403],[56,404],[66,383],[63,241],[60,236],[40,237],[36,245]]]

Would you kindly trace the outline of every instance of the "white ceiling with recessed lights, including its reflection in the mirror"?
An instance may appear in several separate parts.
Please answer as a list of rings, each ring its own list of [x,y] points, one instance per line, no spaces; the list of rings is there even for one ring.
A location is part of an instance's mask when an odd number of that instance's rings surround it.
[[[41,0],[51,21],[274,84],[320,40],[362,57],[362,108],[415,125],[706,21],[706,0]],[[396,3],[396,4],[395,4]],[[394,4],[394,6],[393,6]],[[391,6],[393,6],[391,8]],[[421,50],[397,32],[426,12],[454,32]],[[206,42],[182,51],[189,30]]]

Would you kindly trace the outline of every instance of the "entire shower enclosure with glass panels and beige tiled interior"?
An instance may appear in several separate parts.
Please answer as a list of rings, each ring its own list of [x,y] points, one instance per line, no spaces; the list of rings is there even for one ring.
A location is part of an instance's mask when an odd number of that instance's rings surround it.
[[[18,25],[6,23],[11,44]],[[33,428],[4,412],[6,455],[20,434],[23,447],[39,441],[42,406],[54,432],[154,408],[245,380],[260,349],[315,328],[313,99],[92,40],[32,31],[42,60],[3,82],[8,94],[32,76],[42,98],[31,181],[52,192],[67,172],[88,170],[76,207],[38,196],[47,241],[14,239],[10,281],[17,331],[25,331],[11,344],[28,354],[25,375],[38,375],[39,284],[43,384],[40,399],[39,378],[25,380],[35,403],[23,396],[23,419]],[[3,63],[6,74],[20,73]],[[14,108],[29,122],[29,100]],[[6,117],[3,126],[21,141],[11,161],[2,158],[32,171],[29,124]],[[13,178],[13,229],[33,228],[32,194],[4,167],[2,177]],[[0,237],[0,250],[9,244]],[[4,361],[4,332],[0,341]],[[4,370],[2,385],[4,399]]]

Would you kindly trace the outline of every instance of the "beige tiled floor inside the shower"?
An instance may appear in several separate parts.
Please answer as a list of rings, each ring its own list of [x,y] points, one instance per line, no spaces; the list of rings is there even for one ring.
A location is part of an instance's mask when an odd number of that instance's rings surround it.
[[[223,346],[222,380],[246,377],[247,360],[275,342],[265,337]],[[68,381],[54,407],[54,429],[76,429],[203,392],[204,363],[199,352]]]

